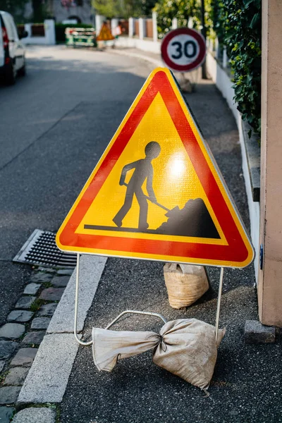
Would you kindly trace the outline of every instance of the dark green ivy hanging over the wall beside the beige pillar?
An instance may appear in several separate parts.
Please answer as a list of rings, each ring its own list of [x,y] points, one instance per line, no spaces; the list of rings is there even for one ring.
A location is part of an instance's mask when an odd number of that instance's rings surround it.
[[[221,0],[214,10],[216,34],[233,71],[234,100],[255,133],[261,129],[261,0]],[[249,133],[250,135],[250,133]]]

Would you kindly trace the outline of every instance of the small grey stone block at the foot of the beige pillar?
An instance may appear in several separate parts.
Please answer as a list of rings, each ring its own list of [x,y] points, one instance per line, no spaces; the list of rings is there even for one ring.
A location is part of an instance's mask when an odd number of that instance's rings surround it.
[[[246,320],[245,322],[245,343],[274,343],[275,328],[272,326],[264,326],[257,320]]]

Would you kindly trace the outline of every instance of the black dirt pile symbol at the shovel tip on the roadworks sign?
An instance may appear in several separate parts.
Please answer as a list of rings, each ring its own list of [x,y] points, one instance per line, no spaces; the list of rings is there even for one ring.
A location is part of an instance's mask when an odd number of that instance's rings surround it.
[[[168,220],[156,232],[166,235],[220,238],[202,198],[189,200],[183,209],[175,207],[166,213]]]

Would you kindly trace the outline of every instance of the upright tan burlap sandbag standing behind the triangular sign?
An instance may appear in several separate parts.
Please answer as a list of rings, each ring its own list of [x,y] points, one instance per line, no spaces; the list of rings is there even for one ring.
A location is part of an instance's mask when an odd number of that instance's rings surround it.
[[[193,304],[209,289],[204,267],[192,264],[166,263],[164,281],[168,291],[168,302],[176,309]]]

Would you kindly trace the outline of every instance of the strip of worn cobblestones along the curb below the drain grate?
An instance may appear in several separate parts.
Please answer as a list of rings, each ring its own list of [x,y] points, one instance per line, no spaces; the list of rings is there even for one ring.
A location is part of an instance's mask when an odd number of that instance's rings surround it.
[[[7,323],[0,327],[1,423],[11,422],[16,412],[20,389],[72,273],[73,269],[35,269],[15,309],[8,314]],[[31,419],[54,423],[56,410],[28,407],[17,412],[13,422]]]

